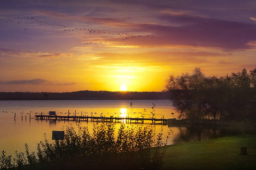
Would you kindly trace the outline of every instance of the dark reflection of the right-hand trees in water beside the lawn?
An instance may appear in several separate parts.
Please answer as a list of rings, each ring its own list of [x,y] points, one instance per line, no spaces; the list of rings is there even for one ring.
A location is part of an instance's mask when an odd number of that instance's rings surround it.
[[[226,127],[194,125],[178,129],[180,134],[174,139],[174,143],[194,142],[230,135]]]

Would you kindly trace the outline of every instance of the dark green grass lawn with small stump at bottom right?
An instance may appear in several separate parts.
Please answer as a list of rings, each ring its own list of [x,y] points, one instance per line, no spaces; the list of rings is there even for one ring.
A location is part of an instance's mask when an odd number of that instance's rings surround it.
[[[240,155],[247,147],[247,155]],[[256,135],[238,135],[167,147],[164,170],[256,170]]]

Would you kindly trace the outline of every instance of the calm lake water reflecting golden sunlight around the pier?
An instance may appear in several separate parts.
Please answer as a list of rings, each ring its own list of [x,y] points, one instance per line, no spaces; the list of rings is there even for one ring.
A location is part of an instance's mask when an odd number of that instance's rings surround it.
[[[156,104],[156,118],[173,118],[178,117],[174,111],[174,107],[169,100],[133,100],[130,106],[130,100],[44,100],[44,101],[0,101],[0,150],[5,150],[6,154],[14,154],[15,150],[24,151],[24,144],[28,143],[30,151],[36,151],[36,143],[44,140],[43,134],[46,133],[49,141],[52,137],[52,131],[60,131],[62,127],[72,124],[77,126],[75,121],[55,121],[46,120],[29,120],[35,114],[43,112],[48,115],[49,111],[56,111],[57,115],[67,115],[67,112],[76,115],[105,115],[109,117],[141,117],[141,113],[146,109],[148,117],[152,111],[152,103]],[[174,115],[170,113],[174,112]],[[16,113],[16,121],[14,121],[14,113]],[[66,113],[66,114],[65,114]],[[23,115],[23,121],[22,121]],[[27,119],[25,120],[25,116]],[[126,122],[124,122],[126,123]],[[149,122],[148,122],[149,123]],[[93,122],[81,121],[81,126],[88,126],[92,131]],[[130,123],[128,126],[131,126]],[[134,123],[132,123],[135,126]],[[116,129],[120,123],[116,123]],[[220,127],[168,127],[168,125],[156,125],[156,132],[161,127],[164,129],[164,140],[170,129],[172,133],[168,144],[184,143],[189,141],[200,141],[209,138],[216,138],[229,135],[227,131]]]

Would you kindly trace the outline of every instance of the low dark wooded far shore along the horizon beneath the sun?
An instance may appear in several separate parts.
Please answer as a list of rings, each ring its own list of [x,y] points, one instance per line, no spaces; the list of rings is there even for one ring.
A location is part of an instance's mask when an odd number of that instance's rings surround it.
[[[159,100],[169,98],[168,92],[108,92],[89,90],[64,93],[0,92],[0,100]]]

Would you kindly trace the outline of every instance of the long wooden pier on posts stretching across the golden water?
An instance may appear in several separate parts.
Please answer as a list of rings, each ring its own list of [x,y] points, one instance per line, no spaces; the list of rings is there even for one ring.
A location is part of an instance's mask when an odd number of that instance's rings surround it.
[[[64,120],[64,121],[92,121],[92,122],[124,122],[126,121],[126,123],[144,123],[144,121],[152,121],[153,124],[162,124],[162,125],[166,125],[167,123],[167,119],[156,119],[156,118],[139,118],[139,117],[114,117],[114,116],[110,116],[110,117],[105,117],[105,116],[101,116],[101,117],[95,117],[95,116],[63,116],[63,115],[35,115],[36,119],[55,119],[55,120]]]

